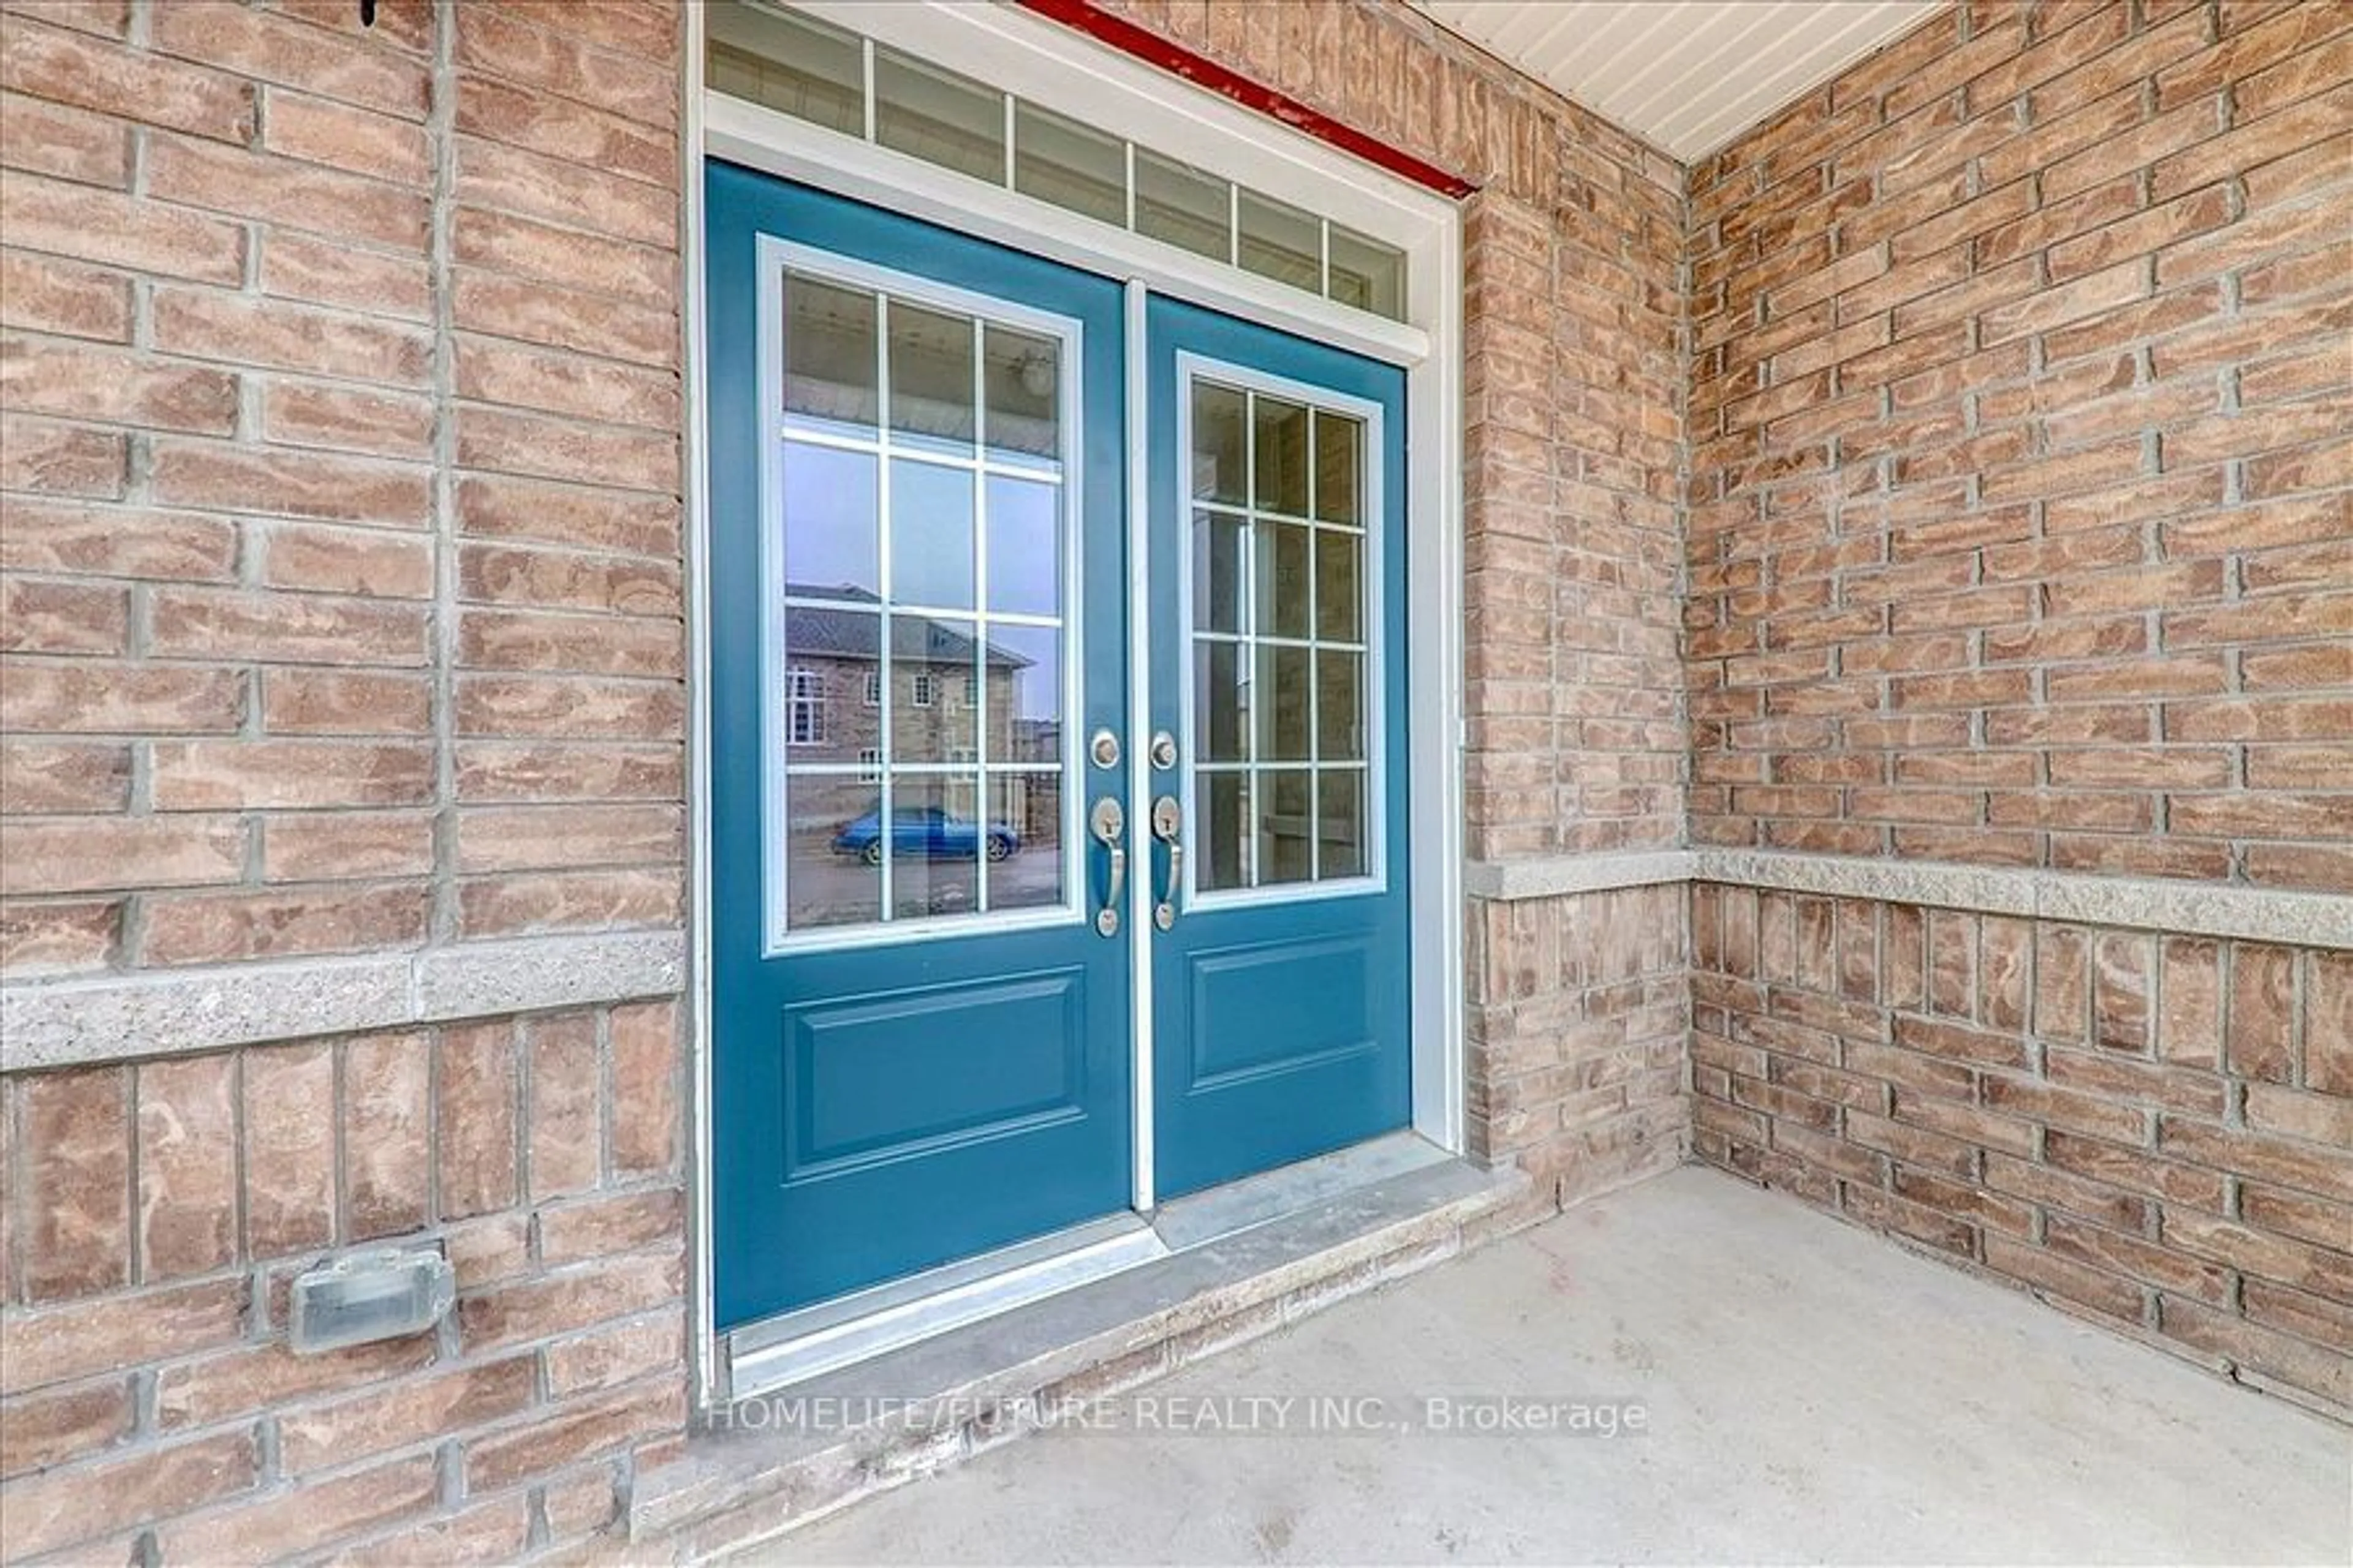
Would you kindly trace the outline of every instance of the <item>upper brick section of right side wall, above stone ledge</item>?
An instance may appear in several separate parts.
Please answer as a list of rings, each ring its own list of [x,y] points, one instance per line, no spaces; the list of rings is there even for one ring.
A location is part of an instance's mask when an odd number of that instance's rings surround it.
[[[2353,891],[2353,14],[1944,12],[1692,174],[1692,837]]]

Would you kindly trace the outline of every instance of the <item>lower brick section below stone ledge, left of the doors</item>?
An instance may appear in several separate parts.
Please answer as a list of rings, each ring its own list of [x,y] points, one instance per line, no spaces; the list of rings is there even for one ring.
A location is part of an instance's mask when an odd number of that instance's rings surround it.
[[[668,1001],[0,1079],[0,1556],[499,1561],[685,1425]],[[607,1091],[607,1084],[612,1091]],[[440,1335],[285,1345],[329,1248],[435,1246]]]

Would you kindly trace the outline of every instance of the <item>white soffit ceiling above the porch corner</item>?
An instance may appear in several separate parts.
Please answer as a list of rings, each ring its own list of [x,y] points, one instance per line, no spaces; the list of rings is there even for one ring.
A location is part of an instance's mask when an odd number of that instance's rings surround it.
[[[1944,0],[1417,0],[1447,28],[1692,162]]]

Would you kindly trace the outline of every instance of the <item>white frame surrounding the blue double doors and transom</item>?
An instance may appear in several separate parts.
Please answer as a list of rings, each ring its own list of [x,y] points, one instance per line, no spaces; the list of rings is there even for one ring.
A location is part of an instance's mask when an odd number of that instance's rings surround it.
[[[1407,378],[1407,748],[1412,769],[1412,1117],[1442,1150],[1464,1150],[1461,1009],[1461,214],[1454,202],[1374,169],[1268,115],[1240,108],[1082,33],[1002,5],[953,0],[793,0],[793,9],[932,59],[962,75],[1087,125],[1111,125],[1139,146],[1329,216],[1405,252],[1405,322],[1205,261],[1172,244],[1075,216],[904,153],[704,89],[704,7],[685,7],[685,407],[687,407],[687,639],[689,639],[689,1009],[692,1197],[689,1269],[694,1403],[720,1396],[711,1255],[711,668],[704,473],[711,458],[704,395],[704,160],[889,207],[1028,249],[1129,284],[1129,430],[1144,430],[1141,303],[1146,289],[1297,331],[1391,364]],[[1134,440],[1129,442],[1134,447]],[[1141,529],[1141,482],[1129,463],[1129,531]],[[1134,538],[1132,538],[1134,543]],[[1144,555],[1129,562],[1132,712],[1141,708]],[[1148,769],[1132,769],[1129,820],[1148,820]],[[1129,879],[1136,943],[1136,1041],[1148,1051],[1148,877]],[[1136,1063],[1136,1204],[1151,1206],[1151,1060]]]

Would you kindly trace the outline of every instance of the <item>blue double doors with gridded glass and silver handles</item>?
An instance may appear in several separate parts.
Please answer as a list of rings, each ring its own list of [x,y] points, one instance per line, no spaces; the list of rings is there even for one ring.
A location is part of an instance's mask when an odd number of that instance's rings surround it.
[[[1405,1126],[1402,374],[706,197],[720,1326]]]

